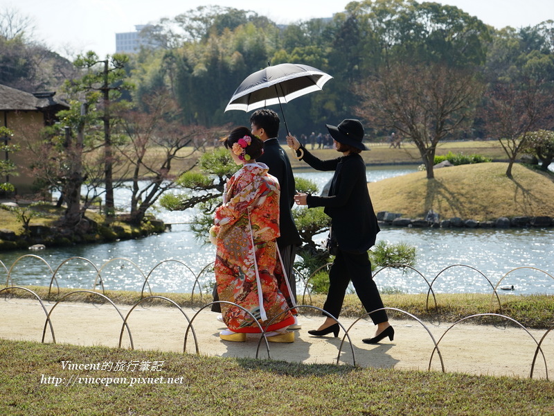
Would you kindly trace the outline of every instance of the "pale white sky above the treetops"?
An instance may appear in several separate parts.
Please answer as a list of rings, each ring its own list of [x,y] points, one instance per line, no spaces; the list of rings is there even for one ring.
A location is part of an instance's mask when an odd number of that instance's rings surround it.
[[[444,0],[438,3],[461,8],[495,28],[535,26],[554,20],[552,0]],[[332,17],[348,0],[278,0],[278,6],[260,0],[0,0],[0,10],[10,8],[33,19],[34,38],[49,49],[74,58],[95,51],[100,58],[115,52],[116,33],[133,32],[138,24],[156,23],[198,6],[217,5],[256,10],[278,24],[316,17]],[[314,6],[316,4],[316,6]]]

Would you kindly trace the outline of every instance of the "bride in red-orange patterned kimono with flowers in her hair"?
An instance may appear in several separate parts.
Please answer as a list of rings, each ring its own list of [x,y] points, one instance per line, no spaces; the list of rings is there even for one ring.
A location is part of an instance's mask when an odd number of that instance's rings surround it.
[[[263,141],[249,128],[235,128],[222,142],[235,163],[243,166],[226,182],[223,205],[217,207],[210,231],[217,246],[217,294],[220,301],[249,311],[267,331],[268,341],[292,343],[294,332],[286,331],[294,324],[292,311],[287,311],[290,291],[276,244],[278,180],[267,173],[265,164],[256,162]],[[260,333],[256,320],[243,309],[224,302],[221,309],[228,328],[220,333],[222,340],[242,342],[247,333]]]

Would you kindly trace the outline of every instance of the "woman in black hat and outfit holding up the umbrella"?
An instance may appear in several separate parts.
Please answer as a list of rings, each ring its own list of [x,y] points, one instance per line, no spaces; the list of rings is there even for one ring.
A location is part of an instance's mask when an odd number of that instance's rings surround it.
[[[339,318],[346,288],[352,281],[356,293],[377,325],[373,338],[364,338],[364,343],[376,344],[388,336],[394,339],[394,329],[388,323],[381,295],[371,276],[368,250],[375,244],[379,232],[377,217],[369,197],[366,165],[359,153],[369,150],[364,146],[364,127],[359,120],[346,119],[337,127],[327,125],[333,138],[334,148],[342,153],[337,159],[321,160],[308,152],[294,136],[287,136],[287,144],[296,150],[296,157],[318,171],[334,171],[328,196],[297,193],[297,205],[325,207],[331,217],[330,241],[335,258],[329,272],[329,292],[323,309],[334,318]],[[327,314],[319,329],[308,331],[314,336],[333,333],[339,336],[339,324]]]

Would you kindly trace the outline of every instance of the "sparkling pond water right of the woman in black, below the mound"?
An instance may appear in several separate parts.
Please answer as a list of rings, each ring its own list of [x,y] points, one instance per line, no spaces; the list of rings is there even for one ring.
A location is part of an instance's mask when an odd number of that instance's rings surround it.
[[[439,273],[436,293],[490,293],[483,277],[496,285],[515,286],[515,291],[500,293],[554,294],[552,252],[553,232],[549,229],[416,229],[384,227],[378,239],[388,243],[407,243],[416,248],[417,268],[431,282]],[[483,275],[466,265],[479,270]],[[524,268],[525,267],[525,268]],[[515,270],[510,272],[510,270]],[[510,272],[508,275],[506,275]],[[406,293],[427,292],[425,281],[415,272],[386,269],[375,278],[377,284]],[[506,276],[506,277],[505,277]]]

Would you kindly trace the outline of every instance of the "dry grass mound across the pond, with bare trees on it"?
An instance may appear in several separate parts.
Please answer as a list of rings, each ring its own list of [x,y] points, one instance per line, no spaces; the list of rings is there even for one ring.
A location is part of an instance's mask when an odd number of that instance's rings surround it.
[[[423,218],[430,209],[440,218],[494,220],[501,216],[552,216],[554,182],[551,177],[520,164],[513,179],[506,177],[503,162],[468,164],[409,173],[368,184],[375,211]]]

